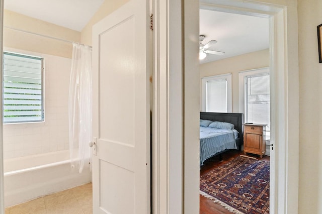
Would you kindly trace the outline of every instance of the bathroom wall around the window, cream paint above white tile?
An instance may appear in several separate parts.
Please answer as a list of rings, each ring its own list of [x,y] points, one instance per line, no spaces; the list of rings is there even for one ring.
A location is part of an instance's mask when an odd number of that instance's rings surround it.
[[[5,11],[4,25],[80,42],[81,33],[15,12]],[[4,50],[45,59],[45,122],[5,124],[4,158],[68,149],[68,90],[72,44],[4,29]]]

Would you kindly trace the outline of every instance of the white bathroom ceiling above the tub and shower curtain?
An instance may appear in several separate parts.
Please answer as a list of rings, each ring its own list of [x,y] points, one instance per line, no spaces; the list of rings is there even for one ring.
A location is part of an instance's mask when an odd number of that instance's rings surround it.
[[[5,9],[82,31],[104,0],[6,0]]]

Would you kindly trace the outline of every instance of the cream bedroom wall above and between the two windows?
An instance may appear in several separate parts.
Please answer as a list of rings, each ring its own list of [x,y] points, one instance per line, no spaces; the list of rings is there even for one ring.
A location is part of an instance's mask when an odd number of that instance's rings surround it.
[[[200,111],[202,110],[201,78],[206,76],[232,73],[232,112],[239,113],[238,72],[268,67],[269,49],[230,57],[200,65]]]

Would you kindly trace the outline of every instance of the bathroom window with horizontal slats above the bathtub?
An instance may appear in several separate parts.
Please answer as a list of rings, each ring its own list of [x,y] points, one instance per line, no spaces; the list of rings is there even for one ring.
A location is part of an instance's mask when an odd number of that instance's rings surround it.
[[[44,121],[43,59],[4,52],[4,123]]]

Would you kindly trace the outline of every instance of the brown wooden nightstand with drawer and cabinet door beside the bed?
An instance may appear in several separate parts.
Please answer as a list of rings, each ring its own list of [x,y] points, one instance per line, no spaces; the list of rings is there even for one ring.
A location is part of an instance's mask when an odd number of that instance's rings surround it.
[[[265,131],[266,124],[244,124],[244,154],[263,157],[266,152]]]

